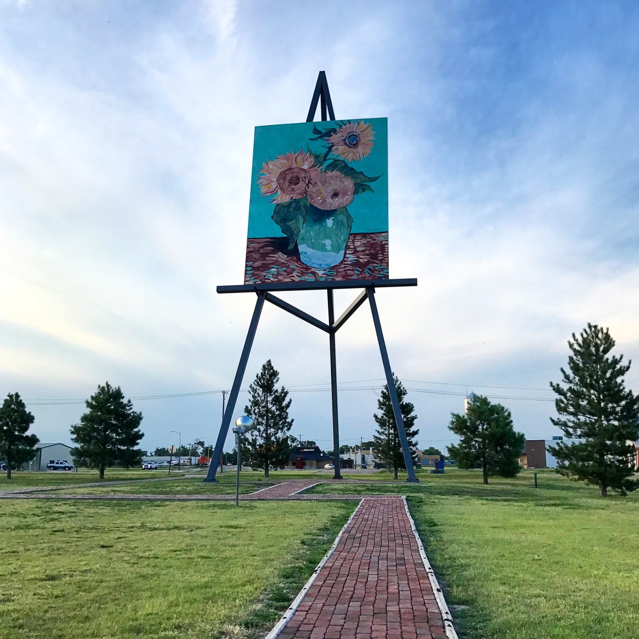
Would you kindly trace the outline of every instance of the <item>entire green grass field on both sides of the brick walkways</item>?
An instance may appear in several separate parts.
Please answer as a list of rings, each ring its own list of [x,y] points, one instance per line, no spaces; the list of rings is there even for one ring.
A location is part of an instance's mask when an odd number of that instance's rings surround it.
[[[150,475],[113,472],[107,480]],[[422,470],[419,484],[378,472],[311,492],[407,495],[463,638],[639,639],[639,495],[604,500],[596,487],[550,470],[538,476],[535,489],[532,471],[491,478],[488,486],[475,471]],[[235,473],[221,475],[219,484],[161,477],[61,490],[235,490]],[[266,480],[243,472],[242,491],[285,479],[330,475],[276,471]],[[0,636],[245,636],[243,626],[272,624],[286,608],[353,507],[0,502]],[[269,568],[272,562],[277,567]]]

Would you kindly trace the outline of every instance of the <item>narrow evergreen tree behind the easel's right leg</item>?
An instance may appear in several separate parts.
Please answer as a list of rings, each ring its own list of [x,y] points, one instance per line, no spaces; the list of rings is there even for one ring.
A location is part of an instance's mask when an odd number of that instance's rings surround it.
[[[395,380],[399,407],[401,408],[401,414],[404,419],[404,430],[406,431],[406,438],[408,439],[410,456],[413,460],[413,465],[415,465],[415,463],[417,463],[417,443],[415,443],[414,438],[417,437],[419,433],[418,429],[413,428],[413,426],[415,426],[415,420],[417,419],[417,415],[413,413],[415,406],[410,402],[404,401],[404,397],[406,397],[408,391],[395,375],[393,375],[393,379]],[[397,479],[397,470],[399,470],[399,468],[406,468],[406,462],[404,461],[404,454],[401,449],[401,442],[399,441],[399,431],[397,431],[395,413],[393,412],[393,404],[390,401],[388,384],[381,389],[381,397],[377,401],[377,408],[380,410],[380,415],[377,413],[373,415],[373,419],[377,422],[378,426],[375,435],[373,435],[375,456],[380,458],[381,461],[388,466],[389,470],[392,468],[393,477]]]

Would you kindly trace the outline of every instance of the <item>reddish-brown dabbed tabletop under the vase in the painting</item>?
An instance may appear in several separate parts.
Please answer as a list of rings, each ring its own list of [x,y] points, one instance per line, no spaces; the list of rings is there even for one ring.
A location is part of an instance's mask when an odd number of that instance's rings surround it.
[[[245,284],[318,282],[389,277],[389,234],[351,233],[344,259],[332,268],[316,270],[300,260],[297,247],[287,254],[288,239],[249,238]]]

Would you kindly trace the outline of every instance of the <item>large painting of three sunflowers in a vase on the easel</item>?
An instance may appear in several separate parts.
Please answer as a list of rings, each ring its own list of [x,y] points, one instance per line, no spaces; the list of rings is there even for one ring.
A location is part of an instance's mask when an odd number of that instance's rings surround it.
[[[389,277],[387,119],[256,127],[246,284]]]

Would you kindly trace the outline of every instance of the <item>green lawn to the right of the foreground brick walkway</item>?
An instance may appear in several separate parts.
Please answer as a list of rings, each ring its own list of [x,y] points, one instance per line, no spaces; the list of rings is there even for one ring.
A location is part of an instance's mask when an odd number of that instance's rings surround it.
[[[447,469],[312,492],[407,495],[461,637],[639,639],[639,495],[602,499],[550,470],[538,479],[484,486],[481,471]]]

